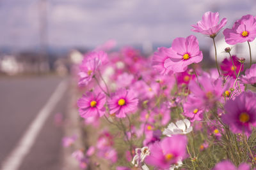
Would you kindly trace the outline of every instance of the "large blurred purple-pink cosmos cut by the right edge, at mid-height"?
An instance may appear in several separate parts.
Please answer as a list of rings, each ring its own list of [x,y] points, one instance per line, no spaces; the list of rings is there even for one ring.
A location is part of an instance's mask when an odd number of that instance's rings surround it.
[[[256,127],[256,94],[242,92],[234,100],[229,100],[224,106],[226,114],[222,116],[225,124],[234,133],[245,133],[250,136],[252,127]]]

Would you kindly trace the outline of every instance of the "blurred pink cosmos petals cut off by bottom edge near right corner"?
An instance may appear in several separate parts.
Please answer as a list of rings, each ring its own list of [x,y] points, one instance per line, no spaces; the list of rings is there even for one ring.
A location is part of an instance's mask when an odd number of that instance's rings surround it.
[[[234,166],[230,160],[223,160],[216,164],[212,170],[250,170],[250,166],[246,163],[240,164],[239,167]]]

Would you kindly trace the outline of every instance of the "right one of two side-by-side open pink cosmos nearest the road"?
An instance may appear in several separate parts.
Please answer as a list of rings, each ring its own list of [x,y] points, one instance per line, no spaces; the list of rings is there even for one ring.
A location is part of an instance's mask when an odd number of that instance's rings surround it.
[[[111,97],[109,104],[109,113],[116,114],[118,118],[126,117],[125,113],[136,110],[138,99],[134,97],[131,90],[120,89]]]

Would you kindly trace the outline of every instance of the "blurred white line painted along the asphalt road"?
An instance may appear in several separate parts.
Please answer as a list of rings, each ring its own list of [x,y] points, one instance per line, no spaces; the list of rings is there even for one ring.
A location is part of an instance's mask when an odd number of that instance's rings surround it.
[[[35,143],[35,139],[42,129],[45,120],[49,117],[54,106],[60,101],[65,90],[67,89],[67,80],[61,81],[52,96],[49,98],[45,106],[40,110],[36,118],[29,125],[28,129],[20,139],[19,143],[12,150],[10,155],[4,160],[1,170],[17,170],[22,160],[29,153],[29,150]]]

